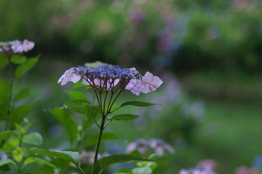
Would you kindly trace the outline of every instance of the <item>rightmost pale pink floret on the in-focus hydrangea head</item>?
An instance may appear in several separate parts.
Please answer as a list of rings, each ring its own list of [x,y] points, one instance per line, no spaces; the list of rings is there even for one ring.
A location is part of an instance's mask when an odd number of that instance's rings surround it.
[[[155,91],[156,88],[160,87],[160,85],[163,83],[163,81],[157,77],[153,76],[152,73],[146,72],[145,76],[142,77],[142,82],[143,82],[143,93],[148,93],[151,91]]]

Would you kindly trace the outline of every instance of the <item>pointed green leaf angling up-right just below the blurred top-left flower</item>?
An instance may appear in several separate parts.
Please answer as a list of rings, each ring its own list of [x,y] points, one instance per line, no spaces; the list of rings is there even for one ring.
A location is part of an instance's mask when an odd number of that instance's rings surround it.
[[[19,65],[17,69],[15,70],[15,80],[17,81],[19,77],[21,77],[23,74],[25,74],[27,71],[29,71],[33,66],[37,63],[38,58],[40,54],[35,57],[26,60],[23,64]]]

